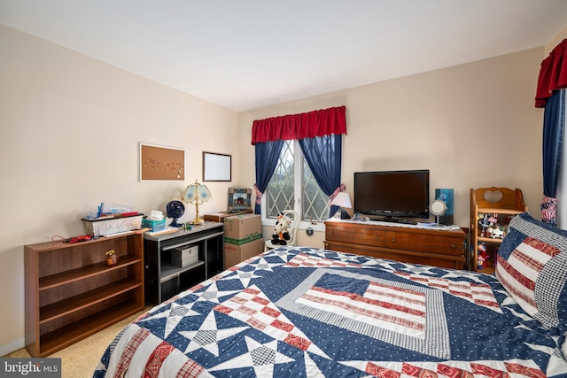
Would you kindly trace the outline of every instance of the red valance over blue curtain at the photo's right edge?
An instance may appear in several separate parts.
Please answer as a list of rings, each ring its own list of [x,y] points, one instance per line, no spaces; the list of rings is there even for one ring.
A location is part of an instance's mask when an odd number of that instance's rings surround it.
[[[541,62],[535,107],[543,108],[557,89],[567,88],[567,39],[559,43]]]

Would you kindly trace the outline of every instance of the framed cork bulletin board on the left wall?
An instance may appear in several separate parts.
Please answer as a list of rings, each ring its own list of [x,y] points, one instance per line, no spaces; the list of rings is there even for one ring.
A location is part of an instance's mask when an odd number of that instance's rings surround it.
[[[140,143],[140,181],[184,181],[185,150]]]

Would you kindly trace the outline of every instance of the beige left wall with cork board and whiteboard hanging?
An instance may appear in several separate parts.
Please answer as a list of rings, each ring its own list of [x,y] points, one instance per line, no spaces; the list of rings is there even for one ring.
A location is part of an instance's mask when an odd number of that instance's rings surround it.
[[[196,178],[203,150],[240,165],[237,113],[0,25],[0,355],[23,346],[23,245],[83,235],[101,201],[140,212]],[[183,181],[138,181],[138,143],[185,149]],[[230,183],[210,183],[227,206]],[[182,220],[195,217],[193,206]]]

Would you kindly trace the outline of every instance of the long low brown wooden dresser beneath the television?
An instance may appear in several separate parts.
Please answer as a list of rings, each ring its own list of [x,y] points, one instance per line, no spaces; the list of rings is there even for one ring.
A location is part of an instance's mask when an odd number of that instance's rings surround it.
[[[462,269],[462,229],[431,229],[377,222],[325,221],[325,249],[376,258]]]

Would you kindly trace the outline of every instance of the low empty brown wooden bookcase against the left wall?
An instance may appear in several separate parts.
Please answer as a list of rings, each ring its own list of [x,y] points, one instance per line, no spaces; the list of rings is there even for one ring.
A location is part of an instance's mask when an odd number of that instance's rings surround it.
[[[106,265],[114,250],[118,263]],[[45,357],[144,310],[144,236],[24,246],[26,349]]]

